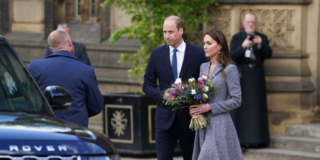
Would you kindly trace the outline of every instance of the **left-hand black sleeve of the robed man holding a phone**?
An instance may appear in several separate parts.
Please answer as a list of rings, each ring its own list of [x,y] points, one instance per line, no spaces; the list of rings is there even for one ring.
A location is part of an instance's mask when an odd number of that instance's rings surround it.
[[[232,60],[237,61],[244,56],[245,49],[242,48],[242,40],[239,35],[232,36],[230,43],[230,55]]]

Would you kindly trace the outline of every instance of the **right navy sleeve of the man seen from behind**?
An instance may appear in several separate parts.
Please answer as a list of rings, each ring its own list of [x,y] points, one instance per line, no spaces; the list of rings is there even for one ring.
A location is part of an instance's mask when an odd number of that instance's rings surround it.
[[[86,98],[87,98],[87,109],[88,109],[88,116],[94,116],[100,113],[103,109],[104,99],[101,95],[99,90],[95,73],[92,68],[90,77],[88,79],[88,86],[87,86]]]

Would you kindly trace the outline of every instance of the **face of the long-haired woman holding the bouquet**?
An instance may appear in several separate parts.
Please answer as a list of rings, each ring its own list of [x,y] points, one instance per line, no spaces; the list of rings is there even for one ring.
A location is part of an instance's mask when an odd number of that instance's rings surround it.
[[[218,50],[221,49],[221,45],[212,39],[210,35],[205,34],[203,38],[203,49],[206,57],[216,58]]]

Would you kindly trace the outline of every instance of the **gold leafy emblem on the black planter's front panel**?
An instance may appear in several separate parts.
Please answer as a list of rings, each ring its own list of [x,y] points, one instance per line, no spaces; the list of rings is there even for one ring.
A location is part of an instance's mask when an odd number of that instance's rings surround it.
[[[115,110],[114,113],[112,113],[113,117],[111,118],[111,125],[112,129],[114,130],[114,134],[117,136],[124,135],[123,130],[125,129],[127,119],[124,118],[125,114],[122,113],[122,111]]]

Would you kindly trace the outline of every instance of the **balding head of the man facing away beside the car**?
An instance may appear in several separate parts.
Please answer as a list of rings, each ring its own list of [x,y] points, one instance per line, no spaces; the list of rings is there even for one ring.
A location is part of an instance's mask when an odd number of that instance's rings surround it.
[[[48,36],[48,43],[52,52],[57,50],[72,50],[72,42],[68,35],[63,30],[53,30]]]

